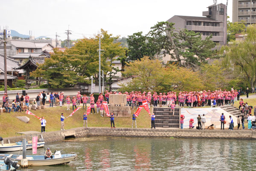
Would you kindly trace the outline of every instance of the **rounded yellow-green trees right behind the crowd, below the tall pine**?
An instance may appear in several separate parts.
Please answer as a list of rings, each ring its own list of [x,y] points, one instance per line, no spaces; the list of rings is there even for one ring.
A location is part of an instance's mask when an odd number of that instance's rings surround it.
[[[192,91],[204,87],[198,72],[173,65],[163,67],[160,60],[150,60],[149,57],[129,63],[123,74],[136,77],[128,84],[122,84],[121,91]]]

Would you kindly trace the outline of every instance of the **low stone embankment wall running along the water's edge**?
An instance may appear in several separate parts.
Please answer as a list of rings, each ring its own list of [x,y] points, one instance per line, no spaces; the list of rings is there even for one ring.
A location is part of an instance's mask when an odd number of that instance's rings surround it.
[[[41,133],[38,133],[40,137]],[[45,142],[56,142],[65,138],[81,138],[91,136],[113,137],[174,137],[174,138],[207,138],[207,139],[239,139],[256,140],[256,131],[251,130],[194,130],[170,128],[73,128],[64,131],[52,131],[43,134]],[[4,138],[4,143],[22,140],[26,135]],[[30,140],[30,137],[27,137]]]

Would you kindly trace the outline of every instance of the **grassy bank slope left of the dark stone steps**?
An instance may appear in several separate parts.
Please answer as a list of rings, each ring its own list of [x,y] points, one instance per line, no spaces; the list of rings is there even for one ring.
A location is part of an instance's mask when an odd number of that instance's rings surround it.
[[[72,108],[72,107],[70,107]],[[71,109],[72,110],[72,109]],[[32,110],[31,112],[38,117],[43,117],[47,121],[46,131],[58,131],[61,128],[60,117],[61,113],[64,116],[69,116],[72,111],[67,111],[66,106],[46,108],[41,110]],[[122,128],[131,128],[132,114],[137,109],[131,110],[131,117],[115,117],[115,126]],[[151,108],[152,110],[152,108]],[[79,109],[72,117],[67,118],[64,123],[65,129],[82,127],[83,126],[83,110]],[[96,111],[96,108],[95,108]],[[152,111],[151,111],[152,112]],[[17,116],[29,117],[29,123],[23,123]],[[89,114],[88,115],[88,127],[111,127],[109,117],[101,117],[100,114]],[[151,118],[149,117],[147,111],[143,109],[140,112],[139,117],[137,117],[137,128],[150,128]],[[15,132],[21,131],[41,131],[41,122],[36,117],[32,115],[25,114],[23,112],[11,112],[11,113],[1,113],[0,114],[0,136],[1,137],[11,137],[15,136]]]

